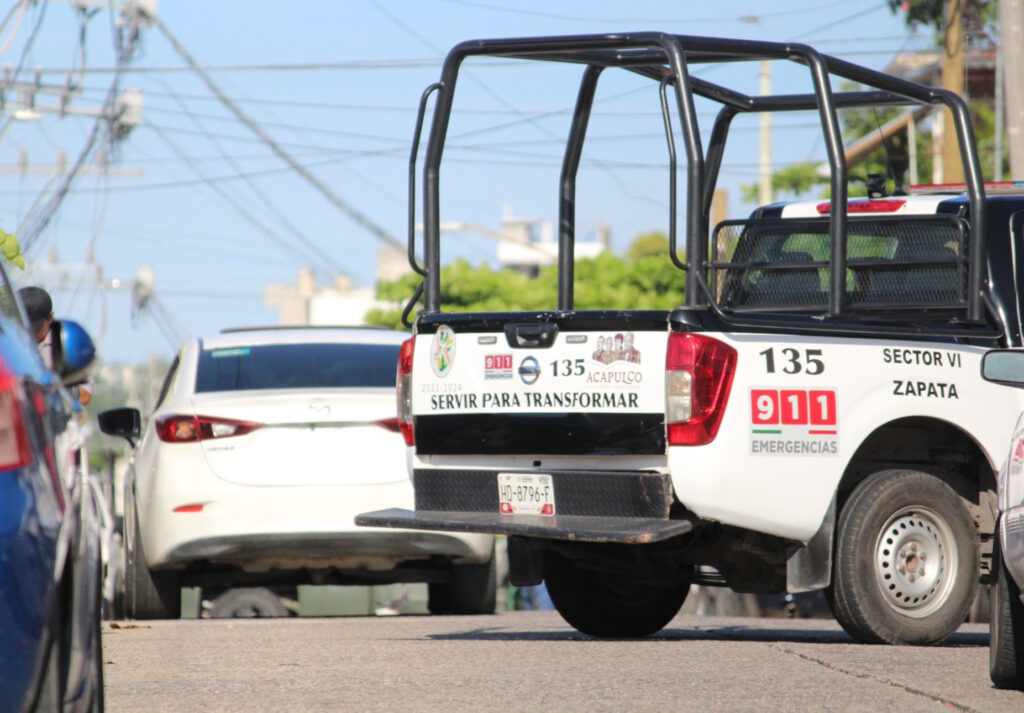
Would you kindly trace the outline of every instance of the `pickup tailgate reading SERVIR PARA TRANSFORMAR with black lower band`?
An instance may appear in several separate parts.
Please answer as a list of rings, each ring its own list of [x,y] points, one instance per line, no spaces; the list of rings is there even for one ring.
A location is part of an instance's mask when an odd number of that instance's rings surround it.
[[[666,313],[447,317],[416,337],[418,454],[665,453]]]

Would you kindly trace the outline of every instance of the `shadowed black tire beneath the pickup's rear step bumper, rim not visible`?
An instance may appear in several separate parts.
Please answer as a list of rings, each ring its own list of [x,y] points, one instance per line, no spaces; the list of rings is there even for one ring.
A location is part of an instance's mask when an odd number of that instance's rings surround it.
[[[558,614],[591,636],[637,638],[660,631],[679,613],[689,585],[660,587],[637,577],[577,564],[549,551],[544,562],[548,594]]]

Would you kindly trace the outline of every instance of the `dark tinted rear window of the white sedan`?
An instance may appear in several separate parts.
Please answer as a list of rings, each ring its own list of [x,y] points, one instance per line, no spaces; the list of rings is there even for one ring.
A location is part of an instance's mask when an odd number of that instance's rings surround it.
[[[200,351],[196,391],[394,386],[397,344],[261,344]]]

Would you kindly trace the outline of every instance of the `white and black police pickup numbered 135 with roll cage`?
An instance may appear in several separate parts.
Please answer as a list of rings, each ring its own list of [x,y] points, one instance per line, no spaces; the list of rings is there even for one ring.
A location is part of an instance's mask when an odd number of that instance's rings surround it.
[[[550,311],[442,308],[439,165],[459,67],[477,55],[583,68]],[[809,89],[749,95],[690,73],[765,59],[799,66]],[[672,310],[573,308],[575,173],[595,87],[612,69],[659,88],[671,176],[673,119],[681,126],[685,244],[673,180],[666,259],[686,291]],[[994,473],[1024,404],[979,371],[985,350],[1022,345],[1024,185],[982,182],[963,99],[800,44],[472,41],[424,94],[411,177],[431,92],[422,265],[410,235],[423,309],[398,365],[416,509],[357,522],[504,534],[511,581],[546,582],[562,617],[595,636],[656,632],[698,583],[823,589],[860,641],[948,637],[989,575]],[[695,97],[720,108],[707,142]],[[848,199],[837,113],[892,106],[947,113],[964,184]],[[816,113],[829,198],[712,225],[730,122],[787,111]]]

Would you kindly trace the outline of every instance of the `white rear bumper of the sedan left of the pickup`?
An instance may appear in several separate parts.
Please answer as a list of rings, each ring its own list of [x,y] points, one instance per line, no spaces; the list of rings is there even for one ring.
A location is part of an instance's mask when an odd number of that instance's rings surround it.
[[[139,503],[146,563],[154,570],[208,562],[247,572],[384,572],[435,555],[467,562],[490,556],[493,541],[483,535],[355,527],[358,512],[411,504],[408,478],[347,487],[246,487],[210,477],[189,490],[173,478],[161,485],[166,490],[159,498]],[[191,503],[202,507],[175,511]]]

